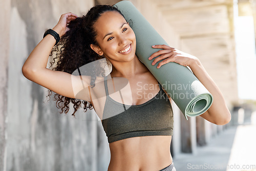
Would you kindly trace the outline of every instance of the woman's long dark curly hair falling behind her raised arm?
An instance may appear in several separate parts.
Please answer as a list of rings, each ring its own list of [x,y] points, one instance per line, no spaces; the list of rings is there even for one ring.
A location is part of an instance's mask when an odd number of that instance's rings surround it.
[[[122,16],[123,14],[116,8],[110,5],[97,5],[92,7],[86,15],[82,17],[77,17],[72,20],[68,25],[69,31],[67,31],[63,36],[61,36],[60,41],[56,46],[51,50],[50,56],[56,54],[51,61],[51,66],[55,64],[55,67],[52,69],[54,71],[63,71],[69,74],[72,74],[75,70],[79,69],[79,67],[86,65],[87,63],[93,62],[98,59],[104,58],[103,56],[99,56],[96,52],[94,52],[90,45],[98,45],[96,41],[96,30],[94,29],[94,24],[97,19],[107,11],[116,11],[119,12]],[[104,75],[104,69],[102,67],[97,68],[98,72],[101,72]],[[96,71],[95,71],[96,72]],[[94,73],[96,75],[96,73]],[[91,87],[95,86],[96,77],[91,77]],[[50,95],[52,95],[52,91],[48,90],[49,100]],[[87,108],[90,110],[93,109],[93,106],[90,102],[83,100],[69,98],[55,93],[54,100],[56,100],[56,107],[61,109],[61,113],[65,112],[67,114],[69,112],[69,103],[72,102],[74,113],[72,116],[75,117],[76,111],[82,107],[84,112],[87,111]]]

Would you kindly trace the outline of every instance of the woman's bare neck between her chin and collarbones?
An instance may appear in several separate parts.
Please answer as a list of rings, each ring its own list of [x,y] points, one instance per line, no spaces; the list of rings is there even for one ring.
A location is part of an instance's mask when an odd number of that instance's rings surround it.
[[[137,74],[147,72],[146,66],[135,55],[134,59],[129,62],[111,62],[112,72],[111,77],[132,78]]]

